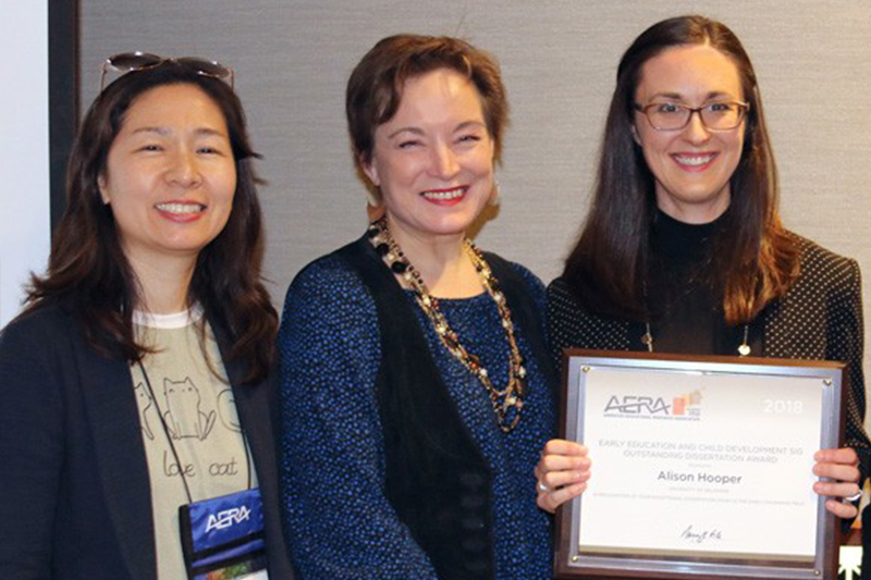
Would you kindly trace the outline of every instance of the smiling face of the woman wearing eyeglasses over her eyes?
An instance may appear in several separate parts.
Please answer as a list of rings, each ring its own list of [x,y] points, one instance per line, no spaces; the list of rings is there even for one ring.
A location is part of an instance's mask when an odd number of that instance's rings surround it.
[[[708,45],[666,49],[641,67],[636,103],[691,108],[744,102],[738,67]],[[698,113],[682,129],[657,131],[635,113],[635,138],[655,180],[659,208],[687,223],[708,223],[728,208],[729,180],[744,150],[745,123],[728,131],[707,128]]]

